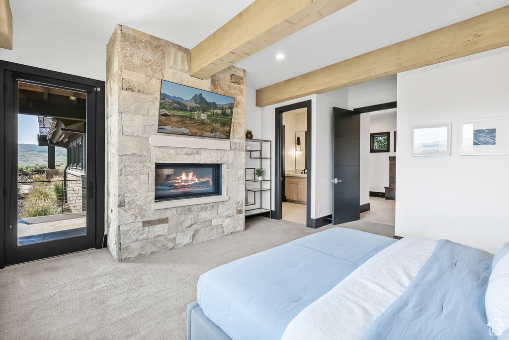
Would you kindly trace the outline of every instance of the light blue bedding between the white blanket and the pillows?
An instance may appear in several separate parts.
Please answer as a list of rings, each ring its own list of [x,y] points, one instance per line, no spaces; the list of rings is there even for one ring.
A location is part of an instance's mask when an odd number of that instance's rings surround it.
[[[483,250],[441,240],[364,339],[496,339],[484,307],[492,259]]]

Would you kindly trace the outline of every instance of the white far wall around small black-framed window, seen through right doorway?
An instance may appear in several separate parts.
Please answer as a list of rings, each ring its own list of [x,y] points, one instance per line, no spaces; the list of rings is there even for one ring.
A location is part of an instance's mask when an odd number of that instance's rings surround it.
[[[389,157],[396,155],[394,152],[394,131],[396,131],[396,117],[376,117],[376,114],[371,114],[371,133],[389,132],[390,152],[370,153],[370,191],[385,192],[385,187],[389,186]],[[396,180],[398,180],[398,178],[396,178]]]

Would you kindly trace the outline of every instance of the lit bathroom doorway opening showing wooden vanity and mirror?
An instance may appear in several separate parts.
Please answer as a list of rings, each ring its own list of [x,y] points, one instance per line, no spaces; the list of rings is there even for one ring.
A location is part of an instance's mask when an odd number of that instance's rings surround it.
[[[284,190],[281,191],[282,219],[301,223],[306,221],[306,108],[286,111],[283,116]]]

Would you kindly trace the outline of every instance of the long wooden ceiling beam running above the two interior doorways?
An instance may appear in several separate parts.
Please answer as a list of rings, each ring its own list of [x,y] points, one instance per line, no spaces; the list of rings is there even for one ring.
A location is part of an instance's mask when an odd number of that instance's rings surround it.
[[[509,6],[256,91],[265,107],[509,45]]]

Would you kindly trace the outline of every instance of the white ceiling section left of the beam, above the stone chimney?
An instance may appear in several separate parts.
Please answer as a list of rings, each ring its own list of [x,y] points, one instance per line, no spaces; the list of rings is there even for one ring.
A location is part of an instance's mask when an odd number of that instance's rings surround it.
[[[120,23],[192,48],[253,0],[11,0],[13,17],[106,45]],[[49,37],[48,37],[49,39]]]

